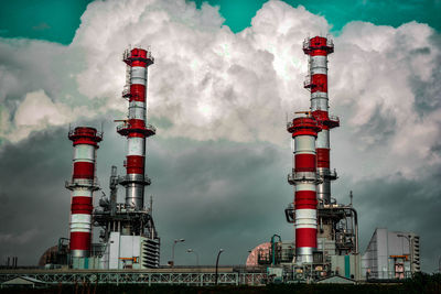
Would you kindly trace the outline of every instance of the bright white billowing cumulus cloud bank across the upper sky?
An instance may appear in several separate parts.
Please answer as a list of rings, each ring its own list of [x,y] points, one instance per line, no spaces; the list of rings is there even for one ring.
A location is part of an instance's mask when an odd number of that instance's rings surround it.
[[[2,138],[12,140],[19,130],[19,140],[110,110],[123,118],[121,53],[132,44],[150,45],[155,57],[148,105],[151,120],[170,122],[159,129],[162,137],[288,145],[286,116],[309,107],[302,41],[326,35],[330,24],[281,1],[267,2],[239,33],[223,21],[218,8],[206,3],[198,10],[183,0],[96,1],[66,47],[1,40],[9,53],[0,67]],[[419,166],[440,163],[433,153],[440,109],[421,112],[416,86],[440,92],[433,36],[431,28],[416,22],[399,28],[353,22],[335,37],[330,104],[342,116],[342,128],[332,137],[336,162],[351,159],[341,164],[347,173],[362,166],[361,176],[415,177]],[[41,98],[31,99],[35,92]],[[23,115],[31,107],[39,107],[39,115]]]

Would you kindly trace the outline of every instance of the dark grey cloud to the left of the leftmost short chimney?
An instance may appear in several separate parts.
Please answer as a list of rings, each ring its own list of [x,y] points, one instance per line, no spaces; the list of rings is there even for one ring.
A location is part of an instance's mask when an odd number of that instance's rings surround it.
[[[33,133],[0,151],[0,262],[18,255],[35,264],[44,249],[66,236],[69,197],[64,181],[72,171],[66,130]]]

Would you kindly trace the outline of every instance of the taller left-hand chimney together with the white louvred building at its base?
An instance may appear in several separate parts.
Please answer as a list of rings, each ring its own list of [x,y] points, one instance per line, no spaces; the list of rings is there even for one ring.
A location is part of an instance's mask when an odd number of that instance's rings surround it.
[[[127,138],[126,175],[118,176],[111,167],[110,197],[99,202],[94,211],[94,222],[104,230],[100,266],[103,269],[147,269],[160,263],[160,239],[152,217],[152,202],[144,207],[146,139],[155,134],[147,124],[147,68],[153,64],[150,52],[143,48],[127,50],[122,55],[127,64],[127,85],[122,97],[129,100],[127,119],[117,132]],[[117,203],[118,184],[126,189],[123,203]]]

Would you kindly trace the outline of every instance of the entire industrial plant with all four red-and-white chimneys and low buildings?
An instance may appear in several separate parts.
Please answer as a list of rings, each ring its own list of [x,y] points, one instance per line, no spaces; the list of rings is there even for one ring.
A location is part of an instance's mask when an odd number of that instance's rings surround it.
[[[129,107],[127,119],[117,120],[116,128],[127,138],[126,174],[118,175],[117,167],[111,167],[109,197],[101,197],[99,206],[94,207],[94,192],[100,189],[96,162],[103,132],[92,127],[71,129],[73,174],[65,185],[72,192],[69,238],[61,238],[42,255],[45,270],[0,272],[0,282],[25,274],[55,284],[359,283],[399,280],[419,272],[419,236],[413,232],[376,229],[366,251],[361,252],[357,210],[352,200],[337,203],[331,189],[338,176],[331,168],[330,135],[341,124],[338,117],[329,113],[327,55],[334,52],[334,44],[330,37],[308,37],[303,52],[309,58],[303,86],[311,92],[311,106],[298,109],[287,126],[293,140],[288,183],[294,196],[288,207],[280,208],[292,224],[292,239],[269,236],[269,242],[250,251],[245,265],[161,265],[152,200],[149,206],[144,202],[146,186],[151,184],[146,174],[146,140],[157,132],[146,115],[148,67],[154,58],[150,51],[135,47],[122,56],[127,65],[122,97]],[[125,189],[123,203],[117,202],[120,186]],[[352,192],[348,194],[352,199]],[[99,228],[98,243],[93,243],[94,227]]]

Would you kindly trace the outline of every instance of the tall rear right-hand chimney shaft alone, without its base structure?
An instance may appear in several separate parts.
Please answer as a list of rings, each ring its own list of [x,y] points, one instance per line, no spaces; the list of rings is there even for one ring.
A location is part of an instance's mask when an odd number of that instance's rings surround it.
[[[314,36],[303,42],[303,52],[310,56],[310,73],[304,87],[311,90],[312,116],[322,126],[316,140],[316,166],[323,179],[318,184],[318,198],[323,204],[329,204],[331,203],[331,181],[336,178],[336,173],[331,172],[330,168],[330,129],[340,126],[338,118],[327,113],[327,55],[334,52],[334,44],[326,37]]]

